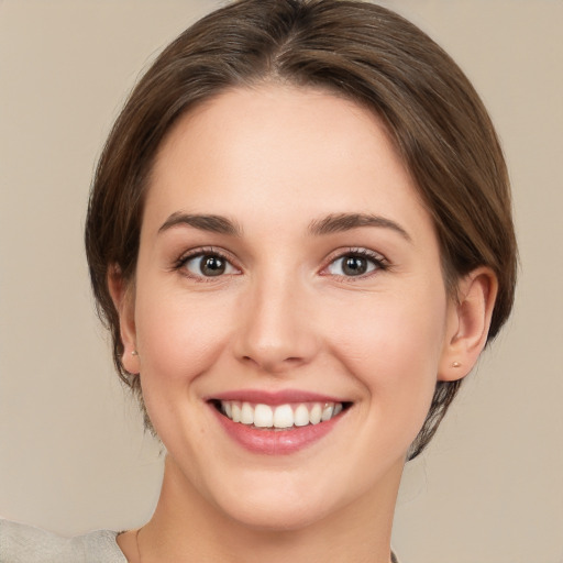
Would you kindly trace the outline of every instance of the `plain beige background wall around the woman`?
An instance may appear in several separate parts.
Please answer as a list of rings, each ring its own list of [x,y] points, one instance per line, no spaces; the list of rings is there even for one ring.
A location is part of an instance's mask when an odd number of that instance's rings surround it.
[[[407,467],[395,544],[409,563],[563,562],[563,2],[385,4],[484,97],[521,250],[515,314]],[[214,5],[0,0],[0,516],[74,534],[151,514],[162,460],[113,374],[82,223],[125,92]]]

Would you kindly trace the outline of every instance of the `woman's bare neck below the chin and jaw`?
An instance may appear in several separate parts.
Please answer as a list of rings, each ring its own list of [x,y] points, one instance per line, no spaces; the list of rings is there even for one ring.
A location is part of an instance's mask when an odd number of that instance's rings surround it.
[[[168,457],[157,508],[139,534],[142,562],[388,563],[401,471],[398,462],[376,490],[320,521],[272,530],[230,518],[203,498]]]

